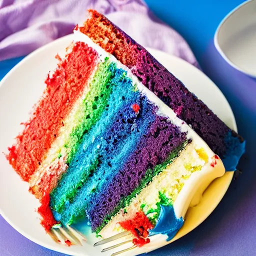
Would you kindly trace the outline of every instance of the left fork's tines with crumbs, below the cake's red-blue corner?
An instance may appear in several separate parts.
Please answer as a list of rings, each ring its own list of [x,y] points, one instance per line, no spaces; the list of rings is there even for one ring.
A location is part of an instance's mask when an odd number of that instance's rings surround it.
[[[82,233],[69,225],[56,224],[50,229],[49,234],[54,241],[67,245],[82,245],[82,241],[86,240]]]

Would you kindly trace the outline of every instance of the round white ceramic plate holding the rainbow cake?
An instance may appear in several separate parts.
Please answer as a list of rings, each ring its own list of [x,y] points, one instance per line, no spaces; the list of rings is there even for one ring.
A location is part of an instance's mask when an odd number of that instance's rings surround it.
[[[56,52],[63,54],[71,40],[71,35],[68,35],[35,50],[20,61],[0,82],[0,152],[6,152],[7,146],[14,142],[13,137],[22,129],[19,123],[28,118],[32,105],[44,89],[47,72],[56,66],[57,60],[54,58]],[[234,116],[228,102],[206,75],[182,59],[158,50],[149,49],[149,51],[229,127],[236,130]],[[191,231],[212,212],[225,194],[232,175],[233,172],[226,172],[224,176],[210,184],[201,202],[189,208],[185,223],[173,240]],[[27,183],[20,180],[4,155],[0,153],[0,214],[18,232],[44,247],[76,256],[100,254],[102,248],[92,246],[97,240],[92,234],[87,235],[88,240],[83,246],[67,247],[55,243],[39,224],[39,215],[35,211],[39,203],[27,190]],[[86,225],[79,225],[78,228],[82,232],[89,232]],[[160,235],[158,238],[151,239],[147,245],[128,253],[129,255],[139,254],[167,243],[169,242],[165,241],[164,236]],[[109,254],[110,252],[105,252],[103,255]]]

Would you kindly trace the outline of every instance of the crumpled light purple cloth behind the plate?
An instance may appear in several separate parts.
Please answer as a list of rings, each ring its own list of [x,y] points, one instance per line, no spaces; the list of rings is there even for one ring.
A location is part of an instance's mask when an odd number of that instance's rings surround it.
[[[87,8],[106,14],[141,45],[197,65],[186,41],[142,0],[0,0],[0,60],[26,55],[71,33],[85,20]]]

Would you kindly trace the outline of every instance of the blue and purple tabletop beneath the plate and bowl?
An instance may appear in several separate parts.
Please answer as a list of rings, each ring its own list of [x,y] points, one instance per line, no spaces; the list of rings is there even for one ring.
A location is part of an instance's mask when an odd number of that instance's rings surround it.
[[[247,140],[246,154],[239,164],[242,174],[231,183],[212,214],[189,234],[148,255],[256,255],[256,167],[253,162],[256,155],[256,80],[229,66],[213,45],[217,25],[241,2],[243,1],[146,0],[159,18],[187,40],[202,70],[224,93],[234,112],[238,131]],[[0,62],[0,78],[19,60],[20,58]],[[6,232],[1,232],[4,237],[0,236],[0,255],[63,255],[30,242],[25,237],[20,238],[20,234],[10,231],[7,223],[1,229]],[[16,254],[15,243],[13,247],[7,247],[7,239],[23,239],[22,251]]]

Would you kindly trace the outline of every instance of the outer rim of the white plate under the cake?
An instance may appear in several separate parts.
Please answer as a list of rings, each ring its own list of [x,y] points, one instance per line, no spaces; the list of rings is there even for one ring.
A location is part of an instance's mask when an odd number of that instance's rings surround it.
[[[22,65],[22,64],[23,64],[24,62],[26,62],[26,61],[29,61],[29,59],[30,59],[31,57],[33,57],[34,55],[36,55],[36,54],[39,53],[40,51],[43,51],[43,50],[47,49],[48,47],[52,47],[52,45],[58,44],[58,43],[61,42],[62,40],[67,40],[67,38],[69,39],[69,37],[70,37],[70,41],[71,41],[71,40],[72,40],[72,34],[68,34],[68,35],[65,35],[65,36],[63,36],[63,37],[60,37],[60,38],[58,38],[58,39],[56,39],[56,40],[54,40],[54,41],[52,41],[52,42],[49,42],[49,43],[47,43],[47,44],[45,44],[45,45],[43,45],[43,46],[37,48],[36,50],[34,50],[33,52],[29,53],[28,55],[26,55],[26,56],[25,56],[22,60],[20,60],[14,67],[12,67],[11,70],[9,70],[8,73],[0,80],[0,89],[1,89],[1,87],[3,86],[3,84],[5,83],[5,80],[6,80],[9,76],[11,76],[12,73],[13,73],[20,65]],[[179,57],[177,57],[177,56],[175,56],[175,55],[171,55],[171,54],[169,54],[169,53],[163,52],[163,51],[158,50],[158,49],[152,49],[152,48],[148,48],[148,47],[146,47],[146,48],[147,48],[147,50],[148,50],[150,53],[155,52],[156,54],[164,54],[165,57],[167,56],[168,58],[175,59],[175,61],[181,61],[181,62],[183,62],[185,65],[190,65],[190,66],[192,66],[192,67],[194,68],[194,70],[197,70],[197,71],[195,71],[195,72],[198,72],[198,73],[200,73],[200,75],[203,75],[205,78],[207,78],[207,80],[208,80],[212,85],[215,86],[215,89],[218,90],[218,92],[222,95],[223,99],[226,101],[226,103],[227,103],[227,105],[228,105],[228,107],[229,107],[230,117],[231,117],[231,119],[232,119],[232,125],[233,125],[232,129],[235,130],[235,131],[237,131],[237,126],[236,126],[235,117],[234,117],[233,111],[232,111],[232,109],[231,109],[231,107],[230,107],[230,105],[229,105],[227,99],[225,98],[225,96],[224,96],[224,94],[221,92],[221,90],[217,87],[217,85],[216,85],[206,74],[204,74],[200,69],[198,69],[198,68],[195,67],[194,65],[190,64],[189,62],[187,62],[187,61],[185,61],[185,60],[183,60],[183,59],[181,59],[181,58],[179,58]],[[156,57],[156,59],[157,59],[157,57]],[[230,182],[231,182],[232,177],[233,177],[233,173],[234,173],[234,172],[232,172],[232,171],[227,171],[227,172],[224,174],[224,175],[228,175],[228,180],[229,180],[229,182],[226,183],[226,189],[223,190],[223,193],[221,193],[221,194],[219,195],[219,198],[220,198],[220,199],[218,200],[218,202],[217,202],[216,204],[212,205],[211,210],[210,210],[210,213],[209,213],[209,214],[206,214],[206,216],[205,216],[204,218],[201,218],[200,221],[199,221],[195,226],[193,226],[193,227],[191,228],[191,230],[189,230],[187,233],[189,233],[189,232],[192,231],[194,228],[196,228],[199,224],[201,224],[201,223],[211,214],[211,212],[215,209],[215,207],[219,204],[219,202],[221,201],[221,199],[222,199],[223,196],[225,195],[226,190],[228,189],[228,187],[229,187],[229,185],[230,185]],[[207,189],[206,189],[206,190],[207,190]],[[62,247],[56,247],[56,246],[54,246],[54,245],[47,244],[46,242],[41,241],[41,240],[39,240],[39,239],[37,239],[37,238],[33,238],[30,234],[28,234],[27,232],[24,232],[24,231],[22,230],[22,228],[19,228],[19,226],[17,226],[15,223],[13,223],[12,220],[10,220],[10,219],[8,218],[8,216],[4,213],[4,211],[3,211],[1,208],[0,208],[0,214],[1,214],[1,216],[8,222],[8,224],[10,224],[16,231],[18,231],[21,235],[25,236],[25,237],[28,238],[29,240],[31,240],[31,241],[33,241],[33,242],[35,242],[35,243],[37,243],[37,244],[39,244],[39,245],[41,245],[41,246],[43,246],[43,247],[45,247],[45,248],[48,248],[48,249],[51,249],[51,250],[54,250],[54,251],[57,251],[57,252],[68,253],[69,255],[75,255],[75,254],[70,254],[70,253],[72,253],[72,252],[71,252],[71,251],[67,251],[67,250],[65,249],[65,246],[62,246],[63,248],[62,248]],[[179,233],[179,232],[178,232],[178,233]],[[178,233],[174,236],[173,239],[171,239],[170,241],[166,242],[164,245],[167,245],[168,243],[171,243],[171,242],[173,242],[174,240],[179,239],[179,238],[181,238],[182,236],[184,236],[184,235],[187,234],[187,233],[185,233],[185,234],[182,234],[181,236],[179,236]],[[162,246],[164,246],[164,245],[162,245]],[[159,246],[159,247],[162,247],[162,246]],[[158,247],[157,247],[157,248],[158,248]],[[156,249],[156,248],[155,248],[155,249]],[[152,250],[151,250],[151,251],[152,251]],[[86,254],[84,254],[84,255],[88,255],[88,256],[89,256],[89,254],[87,254],[87,252],[85,252],[85,253],[86,253]]]

